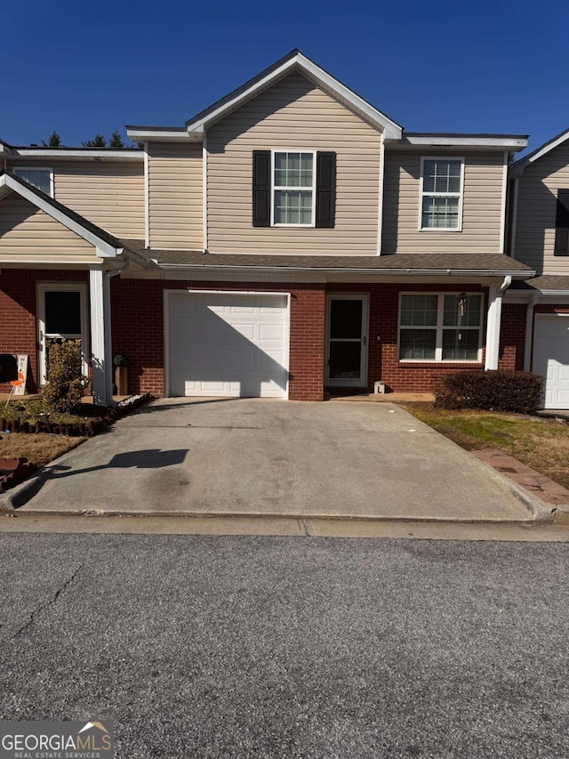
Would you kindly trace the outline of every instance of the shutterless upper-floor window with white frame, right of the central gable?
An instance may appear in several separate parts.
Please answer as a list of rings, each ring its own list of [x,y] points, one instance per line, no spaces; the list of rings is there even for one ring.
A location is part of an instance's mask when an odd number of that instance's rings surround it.
[[[420,230],[462,228],[464,158],[421,158]]]

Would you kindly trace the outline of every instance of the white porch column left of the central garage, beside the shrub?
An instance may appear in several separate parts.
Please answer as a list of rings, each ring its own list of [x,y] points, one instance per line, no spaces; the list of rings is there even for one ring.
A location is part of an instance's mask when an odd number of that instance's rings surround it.
[[[93,403],[110,406],[113,402],[110,282],[101,266],[91,266],[89,269]]]

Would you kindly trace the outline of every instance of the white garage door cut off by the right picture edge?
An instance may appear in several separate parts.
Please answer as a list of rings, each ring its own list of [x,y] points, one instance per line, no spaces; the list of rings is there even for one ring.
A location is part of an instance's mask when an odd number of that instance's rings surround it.
[[[569,316],[537,316],[533,371],[545,377],[545,408],[569,408]]]

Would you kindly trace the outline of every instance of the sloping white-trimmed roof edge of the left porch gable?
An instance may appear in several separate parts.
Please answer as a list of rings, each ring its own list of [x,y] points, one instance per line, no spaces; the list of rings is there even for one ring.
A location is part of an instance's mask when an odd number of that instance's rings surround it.
[[[101,258],[110,258],[120,255],[123,252],[121,241],[109,234],[108,231],[102,230],[96,224],[89,222],[84,216],[76,214],[68,206],[63,206],[54,200],[51,196],[46,195],[42,190],[38,190],[28,182],[12,174],[11,172],[0,172],[0,199],[4,198],[10,192],[16,192],[29,203],[33,204],[40,211],[44,211],[60,222],[68,230],[75,232],[80,238],[91,243],[97,248],[97,254]]]

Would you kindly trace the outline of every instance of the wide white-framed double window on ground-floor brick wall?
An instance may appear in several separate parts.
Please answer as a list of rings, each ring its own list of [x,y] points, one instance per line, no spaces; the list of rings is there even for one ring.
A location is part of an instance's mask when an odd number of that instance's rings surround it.
[[[405,294],[399,309],[400,361],[479,361],[482,295]]]

